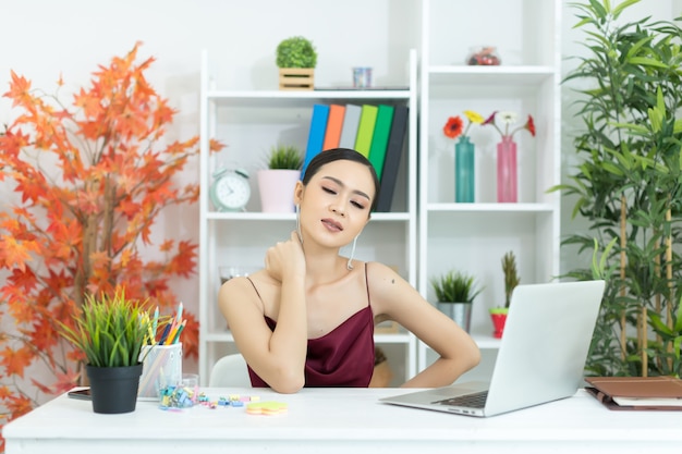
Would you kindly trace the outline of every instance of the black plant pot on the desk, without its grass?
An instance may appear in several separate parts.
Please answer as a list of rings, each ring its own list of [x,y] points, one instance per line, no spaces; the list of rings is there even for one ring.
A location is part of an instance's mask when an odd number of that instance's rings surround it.
[[[90,381],[93,410],[117,414],[135,412],[142,363],[127,367],[86,366]]]

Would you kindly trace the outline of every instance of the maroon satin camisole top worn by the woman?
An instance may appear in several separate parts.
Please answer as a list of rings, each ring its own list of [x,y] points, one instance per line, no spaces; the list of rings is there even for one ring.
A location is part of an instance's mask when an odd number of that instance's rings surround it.
[[[365,279],[366,275],[365,266]],[[367,289],[367,299],[369,299],[369,289]],[[267,316],[265,320],[275,331],[277,322]],[[329,333],[321,338],[308,339],[305,386],[367,388],[373,372],[374,314],[369,304]],[[269,388],[251,367],[248,367],[248,376],[254,388]]]

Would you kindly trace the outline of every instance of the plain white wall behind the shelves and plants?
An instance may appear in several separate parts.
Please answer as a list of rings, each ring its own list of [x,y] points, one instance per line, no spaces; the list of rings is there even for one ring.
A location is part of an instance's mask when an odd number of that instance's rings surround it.
[[[681,4],[682,0],[644,0],[633,11],[670,19],[678,15]],[[354,65],[373,66],[377,85],[404,83],[407,51],[418,48],[416,0],[3,0],[0,14],[0,93],[7,90],[13,70],[47,91],[53,90],[61,74],[66,94],[86,85],[97,64],[124,54],[141,40],[141,57],[157,59],[147,73],[150,83],[180,110],[169,134],[171,139],[198,134],[203,49],[216,63],[220,88],[267,89],[277,86],[277,44],[289,36],[303,35],[316,45],[316,83],[321,86],[350,85]],[[575,42],[582,34],[571,29],[573,14],[564,7],[564,54],[582,52]],[[456,17],[452,17],[452,24],[476,27],[458,24]],[[570,68],[567,62],[564,72]],[[571,93],[564,88],[564,174],[574,164],[570,137],[580,126],[572,118],[570,100]],[[14,114],[8,100],[0,99],[0,123],[8,123]],[[197,177],[195,161],[179,184]],[[5,209],[12,197],[11,187],[0,184],[0,209]],[[564,200],[564,233],[582,228],[570,221],[571,206]],[[158,234],[198,242],[197,221],[197,206],[185,207],[182,212],[169,210],[160,220]],[[562,270],[574,263],[570,253],[562,254]],[[179,282],[175,291],[187,310],[196,312],[198,279]]]

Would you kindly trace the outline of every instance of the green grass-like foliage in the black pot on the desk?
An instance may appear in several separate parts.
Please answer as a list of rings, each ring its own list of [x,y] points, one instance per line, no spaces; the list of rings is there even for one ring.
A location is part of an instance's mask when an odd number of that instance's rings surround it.
[[[99,298],[86,295],[73,317],[75,327],[60,322],[62,334],[81,349],[89,366],[125,367],[139,363],[139,352],[149,333],[149,317],[124,290]]]

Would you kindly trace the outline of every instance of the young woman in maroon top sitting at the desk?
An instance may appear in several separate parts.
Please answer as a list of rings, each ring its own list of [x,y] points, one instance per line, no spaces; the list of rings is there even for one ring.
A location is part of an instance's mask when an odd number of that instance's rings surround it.
[[[468,334],[398,273],[339,255],[369,221],[378,188],[374,167],[360,152],[320,152],[294,189],[296,231],[267,250],[263,270],[220,289],[220,309],[254,386],[281,393],[367,386],[374,326],[383,320],[397,321],[440,355],[403,386],[447,385],[478,364]]]

